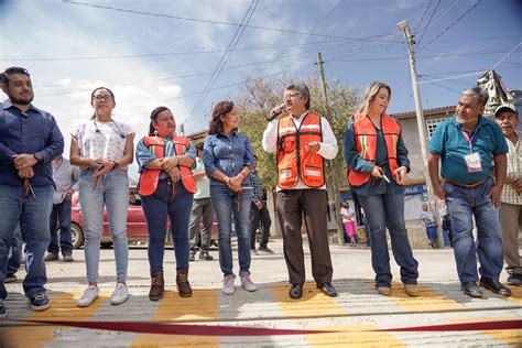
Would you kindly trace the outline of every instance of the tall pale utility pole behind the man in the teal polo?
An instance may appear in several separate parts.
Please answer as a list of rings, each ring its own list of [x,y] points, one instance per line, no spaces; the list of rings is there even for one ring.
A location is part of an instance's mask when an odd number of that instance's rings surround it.
[[[421,153],[422,153],[422,160],[423,160],[423,166],[424,166],[423,172],[424,172],[424,177],[426,178],[428,205],[433,214],[435,215],[436,220],[439,222],[439,226],[441,226],[438,209],[436,205],[434,204],[436,197],[433,194],[432,181],[429,178],[429,173],[427,170],[427,151],[426,151],[427,132],[426,132],[426,127],[424,127],[425,124],[424,113],[423,113],[422,102],[421,102],[421,93],[418,90],[417,72],[415,68],[415,47],[414,47],[415,36],[411,34],[410,25],[407,25],[406,20],[398,23],[396,25],[404,32],[404,39],[406,40],[406,45],[407,45],[407,57],[410,62],[410,73],[412,76],[413,99],[415,100],[415,111],[417,115],[418,140],[421,142]],[[438,244],[439,247],[443,247],[444,236],[443,236],[442,228],[438,229],[437,235],[438,235]]]

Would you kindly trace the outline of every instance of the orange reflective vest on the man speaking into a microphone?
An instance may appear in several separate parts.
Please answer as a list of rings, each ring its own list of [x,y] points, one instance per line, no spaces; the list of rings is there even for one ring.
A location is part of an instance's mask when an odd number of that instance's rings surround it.
[[[290,188],[300,178],[306,186],[320,187],[325,184],[323,156],[306,150],[311,141],[323,141],[320,116],[308,112],[295,127],[292,116],[278,123],[278,186]]]

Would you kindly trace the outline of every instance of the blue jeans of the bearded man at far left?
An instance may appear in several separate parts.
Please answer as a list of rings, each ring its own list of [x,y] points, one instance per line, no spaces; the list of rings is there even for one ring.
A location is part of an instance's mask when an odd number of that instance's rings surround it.
[[[25,242],[25,270],[23,291],[28,297],[45,292],[45,250],[47,250],[48,216],[53,204],[53,186],[33,186],[34,196],[25,197],[22,186],[0,184],[0,300],[8,293],[3,285],[9,248],[14,229],[20,221],[22,240]]]

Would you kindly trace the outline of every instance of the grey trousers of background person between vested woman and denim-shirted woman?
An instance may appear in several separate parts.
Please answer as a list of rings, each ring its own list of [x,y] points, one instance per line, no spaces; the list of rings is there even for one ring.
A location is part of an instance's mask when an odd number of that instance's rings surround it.
[[[202,250],[208,250],[213,238],[213,220],[214,209],[210,198],[194,199],[191,211],[191,222],[188,224],[191,250],[196,251],[199,241],[202,242]],[[203,228],[199,229],[202,222]]]

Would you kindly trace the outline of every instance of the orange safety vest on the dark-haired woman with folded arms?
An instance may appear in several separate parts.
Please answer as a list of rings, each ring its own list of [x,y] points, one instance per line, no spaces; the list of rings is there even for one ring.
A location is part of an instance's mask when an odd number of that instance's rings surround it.
[[[165,156],[165,141],[160,137],[145,137],[143,142],[149,151],[156,157],[163,159]],[[177,155],[185,154],[186,150],[191,145],[188,139],[183,137],[173,137],[172,142],[174,143],[174,150]],[[192,171],[187,166],[180,165],[180,172],[182,172],[182,184],[186,191],[195,194],[197,191],[196,181]],[[138,193],[142,196],[150,196],[156,192],[157,181],[160,178],[161,170],[149,170],[144,168],[144,172],[140,175],[140,183]]]

